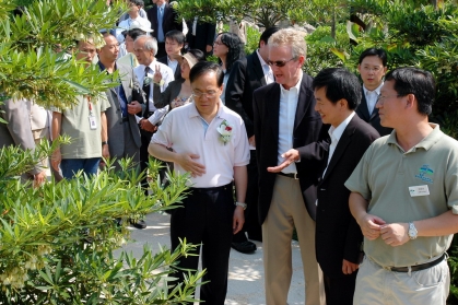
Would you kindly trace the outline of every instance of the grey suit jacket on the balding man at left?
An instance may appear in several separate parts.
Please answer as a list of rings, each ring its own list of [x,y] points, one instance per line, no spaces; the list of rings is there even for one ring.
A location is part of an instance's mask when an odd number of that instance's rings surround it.
[[[119,70],[119,77],[121,79],[122,89],[126,93],[127,103],[130,103],[132,102],[132,89],[140,87],[139,82],[131,67],[119,64],[119,63],[117,63],[116,67]],[[125,152],[125,142],[126,142],[125,137],[132,137],[132,140],[137,145],[137,148],[134,149],[136,150],[140,149],[141,146],[140,129],[137,125],[134,115],[128,115],[129,121],[122,122],[122,112],[121,112],[118,93],[116,89],[111,87],[107,90],[106,95],[111,106],[105,112],[105,115],[107,118],[109,154],[110,156],[122,157],[127,153]],[[138,102],[143,104],[143,101],[138,101]],[[142,105],[142,112],[143,110],[144,110],[144,105]],[[129,124],[130,126],[129,136],[125,134],[124,132],[124,124]]]

